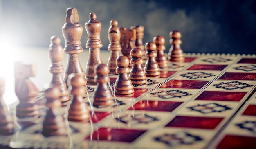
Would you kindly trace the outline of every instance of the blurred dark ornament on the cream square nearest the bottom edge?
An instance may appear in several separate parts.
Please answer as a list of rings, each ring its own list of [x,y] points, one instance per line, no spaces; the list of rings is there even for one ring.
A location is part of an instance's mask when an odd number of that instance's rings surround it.
[[[190,134],[186,131],[181,131],[175,134],[164,133],[160,136],[155,136],[153,139],[168,146],[191,145],[203,140],[200,136]]]

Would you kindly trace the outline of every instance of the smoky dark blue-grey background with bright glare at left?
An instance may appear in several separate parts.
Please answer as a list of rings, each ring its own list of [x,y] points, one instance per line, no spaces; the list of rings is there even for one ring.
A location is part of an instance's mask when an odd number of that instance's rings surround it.
[[[78,9],[83,27],[90,12],[97,14],[102,49],[108,46],[110,20],[117,20],[119,27],[144,26],[144,43],[164,36],[166,50],[169,32],[179,30],[186,53],[256,53],[256,0],[0,0],[0,33],[19,46],[47,47],[52,35],[64,45],[68,7]]]

